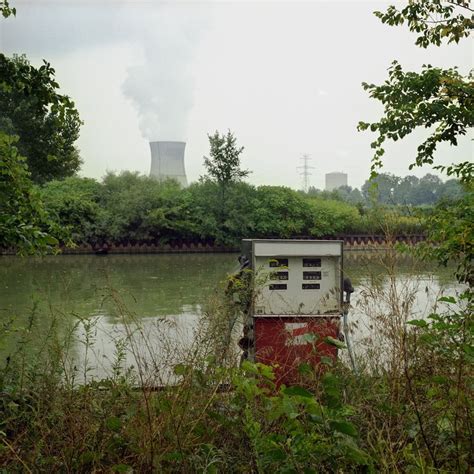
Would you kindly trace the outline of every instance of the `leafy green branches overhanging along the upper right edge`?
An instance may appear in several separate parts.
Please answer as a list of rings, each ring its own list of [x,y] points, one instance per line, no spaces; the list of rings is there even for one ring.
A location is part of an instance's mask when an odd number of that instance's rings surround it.
[[[421,33],[420,46],[440,45],[443,37],[458,42],[468,37],[473,28],[470,2],[466,0],[419,0],[397,10],[391,6],[385,13],[375,14],[384,23],[400,25],[405,21],[410,30]],[[464,16],[468,13],[470,16]],[[359,129],[370,129],[378,134],[372,143],[373,180],[382,166],[384,142],[396,141],[423,127],[434,131],[418,146],[414,163],[410,166],[433,165],[435,151],[440,143],[457,145],[458,138],[474,126],[474,79],[471,72],[463,77],[457,69],[423,66],[421,73],[404,72],[396,61],[389,69],[388,80],[380,86],[363,84],[370,96],[384,105],[384,115],[378,122],[360,122]],[[440,202],[431,214],[428,234],[432,246],[428,253],[438,262],[458,264],[460,282],[472,285],[473,238],[473,172],[472,160],[450,166],[435,166],[448,176],[456,176],[464,187],[464,194],[449,203]],[[426,249],[425,249],[426,250]]]

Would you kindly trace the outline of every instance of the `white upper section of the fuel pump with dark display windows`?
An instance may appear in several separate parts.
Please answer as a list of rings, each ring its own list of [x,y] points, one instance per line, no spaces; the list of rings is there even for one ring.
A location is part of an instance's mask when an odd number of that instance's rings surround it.
[[[257,285],[254,316],[340,314],[342,246],[335,240],[244,240]]]

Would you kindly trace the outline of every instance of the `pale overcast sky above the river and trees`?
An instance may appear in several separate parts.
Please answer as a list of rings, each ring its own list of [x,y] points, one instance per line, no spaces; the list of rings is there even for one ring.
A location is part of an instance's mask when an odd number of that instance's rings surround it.
[[[301,188],[297,167],[308,154],[311,185],[345,171],[359,187],[373,137],[356,126],[381,112],[361,82],[383,82],[394,59],[411,70],[473,67],[472,42],[417,48],[406,28],[373,15],[381,1],[11,3],[17,17],[0,21],[1,51],[55,67],[84,121],[81,175],[94,178],[148,173],[148,140],[159,139],[187,142],[194,181],[204,173],[207,134],[230,129],[245,146],[252,183]],[[385,171],[408,174],[423,136],[390,146]],[[471,143],[440,149],[440,162],[472,159]]]

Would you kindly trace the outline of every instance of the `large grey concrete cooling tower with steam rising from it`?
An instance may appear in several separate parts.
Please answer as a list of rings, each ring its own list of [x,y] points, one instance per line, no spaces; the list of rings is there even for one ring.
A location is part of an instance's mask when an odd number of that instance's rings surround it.
[[[185,142],[150,142],[150,176],[160,181],[172,178],[181,186],[187,186],[188,181],[184,170],[185,147]]]

